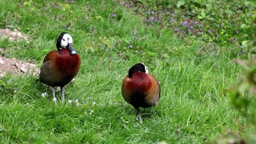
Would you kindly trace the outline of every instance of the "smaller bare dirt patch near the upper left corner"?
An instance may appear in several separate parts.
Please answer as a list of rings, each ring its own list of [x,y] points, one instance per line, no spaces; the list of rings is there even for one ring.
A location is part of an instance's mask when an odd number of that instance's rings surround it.
[[[10,29],[0,29],[0,37],[9,37],[9,40],[28,40],[29,36],[21,34],[17,29],[11,31]]]

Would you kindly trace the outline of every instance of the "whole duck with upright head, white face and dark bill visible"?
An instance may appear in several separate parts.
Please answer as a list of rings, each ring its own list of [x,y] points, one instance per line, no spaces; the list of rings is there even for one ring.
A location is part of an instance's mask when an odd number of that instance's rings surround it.
[[[66,32],[59,36],[57,50],[50,51],[43,59],[39,80],[51,87],[53,101],[56,102],[55,88],[61,88],[61,99],[64,101],[64,89],[78,73],[81,59],[75,52],[72,37]]]

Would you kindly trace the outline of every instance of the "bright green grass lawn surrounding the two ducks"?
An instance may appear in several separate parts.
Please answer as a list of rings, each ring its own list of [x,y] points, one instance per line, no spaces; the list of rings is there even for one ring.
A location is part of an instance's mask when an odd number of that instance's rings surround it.
[[[66,86],[65,102],[56,91],[58,104],[53,103],[51,89],[35,81],[37,77],[13,75],[17,92],[12,85],[0,92],[1,142],[202,143],[205,138],[214,141],[228,129],[250,136],[253,126],[230,106],[225,93],[243,74],[234,59],[250,55],[232,51],[198,55],[200,41],[180,39],[167,28],[157,32],[158,26],[142,27],[143,18],[112,0],[69,1],[65,10],[64,0],[48,3],[2,0],[0,28],[18,29],[31,37],[31,43],[1,38],[0,48],[6,48],[11,58],[40,67],[65,31],[82,59],[80,71]],[[128,69],[139,62],[161,85],[156,114],[142,109],[142,124],[120,90]],[[42,97],[44,92],[48,95]],[[80,106],[67,101],[75,99]],[[249,112],[255,108],[251,102]]]

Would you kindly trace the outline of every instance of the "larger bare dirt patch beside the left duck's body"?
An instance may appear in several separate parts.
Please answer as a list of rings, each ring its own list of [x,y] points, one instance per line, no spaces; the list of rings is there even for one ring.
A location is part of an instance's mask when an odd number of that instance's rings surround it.
[[[24,61],[8,59],[0,55],[0,77],[3,77],[8,72],[11,74],[33,74],[37,75],[40,73],[40,69],[35,64],[25,63]]]

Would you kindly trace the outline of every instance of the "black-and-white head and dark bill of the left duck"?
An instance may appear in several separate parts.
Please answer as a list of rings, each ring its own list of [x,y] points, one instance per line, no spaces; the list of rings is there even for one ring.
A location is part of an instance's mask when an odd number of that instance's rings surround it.
[[[56,46],[59,51],[61,50],[61,48],[67,48],[70,54],[75,55],[77,53],[75,52],[72,43],[72,37],[66,32],[62,32],[57,40]]]

